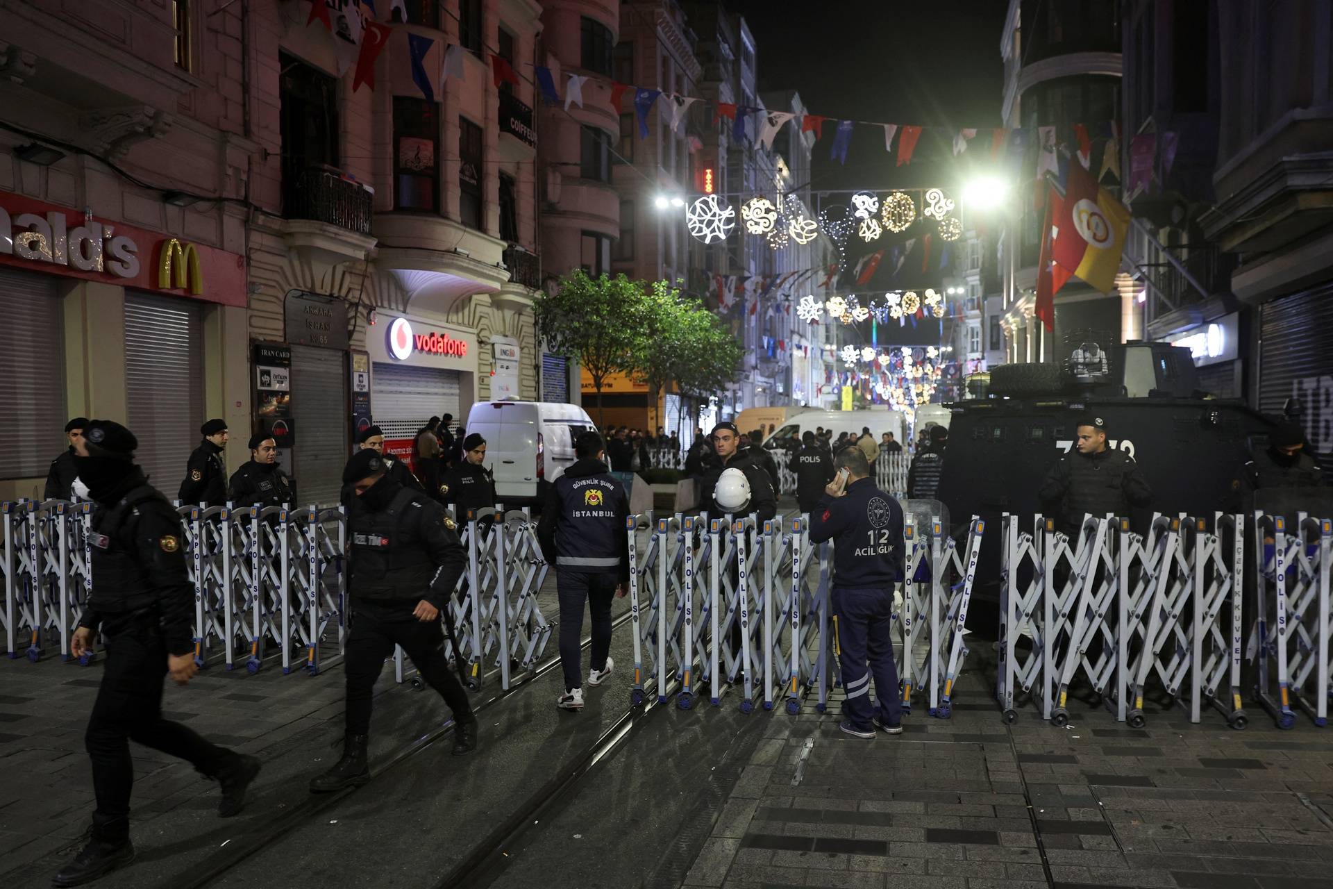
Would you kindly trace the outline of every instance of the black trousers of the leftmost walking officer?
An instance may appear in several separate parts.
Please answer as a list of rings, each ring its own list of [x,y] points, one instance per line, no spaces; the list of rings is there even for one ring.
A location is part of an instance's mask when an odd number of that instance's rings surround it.
[[[97,797],[93,824],[113,834],[111,838],[120,838],[129,830],[129,793],[135,784],[129,741],[180,757],[209,777],[233,754],[188,726],[163,718],[167,645],[155,625],[139,621],[117,633],[108,630],[105,642],[107,666],[84,744]]]

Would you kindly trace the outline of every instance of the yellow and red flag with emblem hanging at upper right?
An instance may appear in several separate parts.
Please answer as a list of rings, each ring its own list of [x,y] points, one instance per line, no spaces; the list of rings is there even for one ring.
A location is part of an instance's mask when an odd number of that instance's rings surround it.
[[[1106,293],[1114,287],[1129,231],[1129,211],[1097,185],[1082,164],[1069,164],[1069,187],[1057,213],[1050,259]]]

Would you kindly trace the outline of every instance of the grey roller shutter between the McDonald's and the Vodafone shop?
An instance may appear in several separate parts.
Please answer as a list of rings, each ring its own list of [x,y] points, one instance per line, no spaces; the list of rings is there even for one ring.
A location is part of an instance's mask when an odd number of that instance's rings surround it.
[[[301,505],[336,505],[349,456],[347,353],[293,345],[292,407],[297,417],[292,474]]]

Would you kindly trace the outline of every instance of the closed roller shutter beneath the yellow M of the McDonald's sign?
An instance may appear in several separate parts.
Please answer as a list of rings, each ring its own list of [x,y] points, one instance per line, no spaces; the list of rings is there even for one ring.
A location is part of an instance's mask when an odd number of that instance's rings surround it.
[[[125,405],[149,482],[175,497],[204,423],[203,311],[125,293]]]

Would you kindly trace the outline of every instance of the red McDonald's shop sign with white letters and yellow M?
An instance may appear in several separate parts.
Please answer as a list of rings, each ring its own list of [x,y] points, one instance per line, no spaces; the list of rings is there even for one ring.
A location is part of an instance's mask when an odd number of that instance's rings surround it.
[[[0,192],[0,265],[245,305],[245,259]]]

